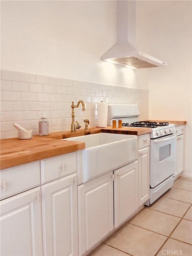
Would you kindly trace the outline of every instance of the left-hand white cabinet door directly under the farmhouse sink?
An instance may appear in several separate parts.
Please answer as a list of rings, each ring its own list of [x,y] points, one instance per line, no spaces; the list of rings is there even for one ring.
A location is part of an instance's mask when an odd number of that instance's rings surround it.
[[[78,186],[79,255],[113,230],[113,172]]]

